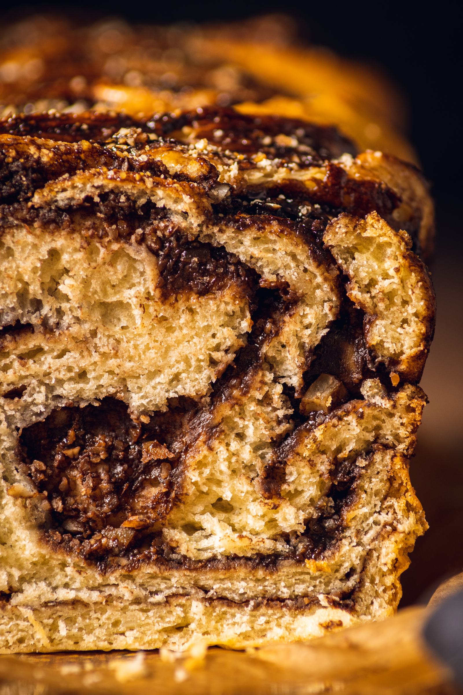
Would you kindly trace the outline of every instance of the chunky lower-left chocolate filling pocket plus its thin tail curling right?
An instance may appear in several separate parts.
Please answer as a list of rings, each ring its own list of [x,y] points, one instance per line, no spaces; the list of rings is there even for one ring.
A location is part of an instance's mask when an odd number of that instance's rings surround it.
[[[333,468],[330,490],[305,532],[283,534],[289,553],[194,561],[162,541],[162,525],[181,493],[178,463],[195,408],[191,401],[176,404],[143,423],[129,416],[124,403],[105,398],[99,406],[56,409],[24,428],[19,467],[42,498],[45,543],[102,572],[121,564],[131,571],[154,561],[166,568],[276,569],[288,559],[321,557],[342,534],[342,512],[361,473],[355,461]]]

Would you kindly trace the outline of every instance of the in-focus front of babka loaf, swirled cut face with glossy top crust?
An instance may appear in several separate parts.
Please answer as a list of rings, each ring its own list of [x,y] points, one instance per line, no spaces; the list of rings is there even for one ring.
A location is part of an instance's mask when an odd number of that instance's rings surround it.
[[[434,295],[378,157],[231,109],[0,122],[1,651],[395,610]]]

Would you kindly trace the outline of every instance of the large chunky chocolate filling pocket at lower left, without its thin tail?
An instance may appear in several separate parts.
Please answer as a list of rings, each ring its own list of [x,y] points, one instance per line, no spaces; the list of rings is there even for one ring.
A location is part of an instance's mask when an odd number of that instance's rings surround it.
[[[194,406],[133,420],[126,405],[64,407],[19,436],[21,468],[47,500],[46,532],[85,557],[119,555],[171,508],[183,420]],[[47,509],[47,505],[45,505]]]

